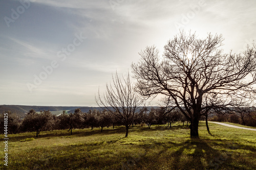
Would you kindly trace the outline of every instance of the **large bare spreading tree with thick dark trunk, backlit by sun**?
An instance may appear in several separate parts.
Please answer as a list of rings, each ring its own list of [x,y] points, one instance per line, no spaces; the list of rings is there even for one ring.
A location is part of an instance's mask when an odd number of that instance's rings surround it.
[[[255,46],[243,54],[224,54],[223,40],[181,31],[164,46],[163,57],[155,46],[146,47],[132,64],[137,91],[170,99],[190,121],[190,137],[199,137],[199,119],[210,109],[248,106],[255,94]]]

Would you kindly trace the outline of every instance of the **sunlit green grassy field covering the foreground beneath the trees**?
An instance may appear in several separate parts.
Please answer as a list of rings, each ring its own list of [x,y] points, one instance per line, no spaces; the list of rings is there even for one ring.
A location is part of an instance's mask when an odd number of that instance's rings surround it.
[[[255,131],[209,127],[200,123],[200,139],[181,124],[136,126],[127,138],[124,127],[13,134],[8,169],[256,169]]]

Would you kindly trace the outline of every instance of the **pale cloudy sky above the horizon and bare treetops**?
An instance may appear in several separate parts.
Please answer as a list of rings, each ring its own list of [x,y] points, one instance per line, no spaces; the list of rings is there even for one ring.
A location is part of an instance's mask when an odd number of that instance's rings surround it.
[[[97,106],[98,89],[127,76],[146,46],[161,54],[191,30],[241,53],[255,27],[255,0],[1,0],[0,105]]]

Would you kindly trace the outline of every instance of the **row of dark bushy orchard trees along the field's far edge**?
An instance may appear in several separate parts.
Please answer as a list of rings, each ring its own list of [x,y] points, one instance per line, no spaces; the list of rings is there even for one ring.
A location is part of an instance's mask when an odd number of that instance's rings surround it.
[[[209,120],[256,127],[256,112],[248,114],[243,112],[240,114],[216,113],[212,114]],[[183,126],[185,122],[186,126],[189,123],[178,109],[158,107],[147,110],[144,107],[134,114],[131,126],[148,126],[148,129],[150,129],[151,125],[166,125],[168,123],[168,127],[172,128],[172,123],[176,122],[183,123]],[[4,125],[4,114],[0,115],[0,125]],[[31,109],[24,119],[21,119],[18,114],[8,111],[8,133],[10,134],[36,132],[36,137],[38,137],[40,131],[68,130],[72,135],[74,129],[90,128],[93,130],[94,128],[100,128],[102,132],[105,127],[114,129],[115,126],[123,125],[123,120],[114,116],[108,110],[90,110],[86,113],[77,108],[74,113],[67,114],[63,110],[62,114],[56,116],[49,110],[37,113]],[[1,126],[0,129],[1,134],[3,134],[4,126]]]

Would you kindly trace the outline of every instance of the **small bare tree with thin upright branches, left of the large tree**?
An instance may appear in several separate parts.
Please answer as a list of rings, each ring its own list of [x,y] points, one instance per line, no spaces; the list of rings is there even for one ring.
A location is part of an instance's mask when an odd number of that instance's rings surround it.
[[[98,92],[98,99],[95,100],[99,107],[108,110],[122,120],[126,128],[125,137],[127,137],[129,127],[134,120],[134,114],[139,110],[139,106],[143,104],[144,100],[134,90],[129,72],[126,80],[123,78],[123,82],[118,77],[117,72],[115,77],[112,75],[112,80],[113,85],[106,84],[106,92],[103,94],[103,98]]]

